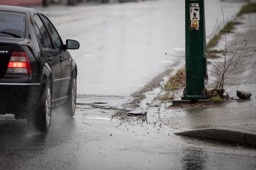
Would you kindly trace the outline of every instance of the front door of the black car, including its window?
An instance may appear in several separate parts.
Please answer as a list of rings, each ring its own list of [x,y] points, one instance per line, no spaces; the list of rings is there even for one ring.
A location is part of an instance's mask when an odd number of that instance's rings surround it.
[[[66,99],[68,97],[70,80],[71,80],[71,56],[68,51],[66,51],[61,38],[51,23],[51,21],[41,14],[43,21],[45,22],[51,37],[53,39],[54,47],[59,52],[59,57],[61,61],[61,83],[58,98]]]

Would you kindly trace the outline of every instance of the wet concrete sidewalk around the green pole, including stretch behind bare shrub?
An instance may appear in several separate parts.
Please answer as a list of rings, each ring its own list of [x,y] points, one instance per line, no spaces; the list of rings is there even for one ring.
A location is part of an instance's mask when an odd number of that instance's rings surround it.
[[[256,13],[243,15],[238,20],[243,24],[236,25],[234,32],[227,36],[244,38],[249,35],[248,47],[256,47]],[[254,53],[255,48],[247,52]],[[255,57],[256,54],[251,57],[252,63],[256,62]],[[249,81],[245,82],[248,78]],[[147,121],[154,123],[160,120],[161,124],[170,126],[173,133],[179,135],[256,147],[256,66],[232,81],[235,84],[245,83],[226,87],[234,99],[221,105],[175,102],[181,99],[182,90],[176,92],[174,101],[162,102],[159,100],[165,93],[162,91],[148,107]],[[247,100],[239,99],[236,90],[248,91],[252,96]]]

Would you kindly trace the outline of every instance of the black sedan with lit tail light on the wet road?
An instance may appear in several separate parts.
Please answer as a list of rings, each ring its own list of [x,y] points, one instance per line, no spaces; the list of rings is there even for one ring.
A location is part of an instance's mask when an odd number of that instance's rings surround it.
[[[50,20],[32,8],[0,5],[0,114],[47,131],[53,107],[73,116],[77,67]]]

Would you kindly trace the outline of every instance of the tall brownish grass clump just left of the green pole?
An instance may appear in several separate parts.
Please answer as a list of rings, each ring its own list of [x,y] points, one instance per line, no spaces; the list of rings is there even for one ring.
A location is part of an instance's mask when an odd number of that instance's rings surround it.
[[[173,76],[169,76],[168,81],[164,84],[165,90],[176,90],[185,86],[186,76],[185,71],[179,69],[177,73]]]

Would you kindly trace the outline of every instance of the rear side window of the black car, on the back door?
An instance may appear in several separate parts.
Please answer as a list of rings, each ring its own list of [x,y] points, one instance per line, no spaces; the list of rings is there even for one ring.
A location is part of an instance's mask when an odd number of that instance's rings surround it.
[[[39,31],[42,35],[42,38],[43,38],[43,41],[44,41],[44,44],[45,44],[45,48],[52,48],[53,49],[53,45],[52,45],[50,36],[49,36],[43,22],[41,21],[39,15],[37,15],[37,14],[34,15],[34,21],[35,21],[35,24],[38,26]]]

